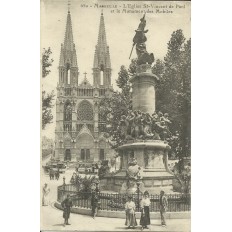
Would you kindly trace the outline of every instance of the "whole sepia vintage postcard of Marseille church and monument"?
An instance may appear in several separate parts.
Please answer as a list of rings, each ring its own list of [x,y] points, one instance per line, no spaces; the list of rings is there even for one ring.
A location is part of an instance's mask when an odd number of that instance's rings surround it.
[[[41,231],[191,230],[191,2],[41,0]]]

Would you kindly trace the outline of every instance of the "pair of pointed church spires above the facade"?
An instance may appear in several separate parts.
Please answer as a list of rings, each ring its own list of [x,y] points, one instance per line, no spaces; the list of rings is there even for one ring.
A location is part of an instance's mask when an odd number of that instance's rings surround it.
[[[72,21],[68,10],[64,43],[61,44],[59,61],[59,83],[78,85],[78,65],[73,42]],[[111,86],[111,62],[109,46],[106,41],[104,16],[101,13],[98,41],[93,62],[93,86]]]

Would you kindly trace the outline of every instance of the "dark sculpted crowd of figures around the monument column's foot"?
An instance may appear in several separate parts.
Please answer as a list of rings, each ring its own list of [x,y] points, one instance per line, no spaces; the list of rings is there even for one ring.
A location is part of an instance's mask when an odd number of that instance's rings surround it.
[[[129,110],[127,116],[121,116],[117,132],[122,139],[166,140],[171,136],[170,124],[168,113],[159,111],[150,115],[140,110]]]

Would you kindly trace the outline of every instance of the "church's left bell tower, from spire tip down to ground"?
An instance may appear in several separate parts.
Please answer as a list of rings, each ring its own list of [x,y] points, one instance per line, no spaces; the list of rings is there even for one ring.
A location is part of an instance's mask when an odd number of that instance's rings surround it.
[[[76,48],[73,42],[72,21],[68,10],[64,43],[61,44],[59,82],[56,100],[56,158],[71,159],[72,138],[76,128],[75,96],[78,86]],[[62,156],[62,157],[61,157]]]

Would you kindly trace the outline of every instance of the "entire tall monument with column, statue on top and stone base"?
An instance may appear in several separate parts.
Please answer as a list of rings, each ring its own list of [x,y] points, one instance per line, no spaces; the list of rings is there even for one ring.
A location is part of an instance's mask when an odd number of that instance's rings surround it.
[[[154,56],[146,50],[145,34],[148,30],[145,27],[144,15],[133,38],[138,58],[136,74],[131,79],[133,112],[122,117],[125,120],[129,118],[128,122],[133,118],[133,123],[124,129],[127,131],[125,141],[118,148],[121,157],[120,171],[114,176],[106,177],[107,181],[104,183],[105,189],[120,193],[135,193],[138,188],[141,192],[147,190],[149,193],[159,193],[161,189],[172,192],[174,177],[167,165],[170,146],[149,126],[151,115],[154,116],[156,125],[160,125],[159,128],[165,128],[165,120],[163,116],[155,119],[155,84],[158,77],[151,71]]]

